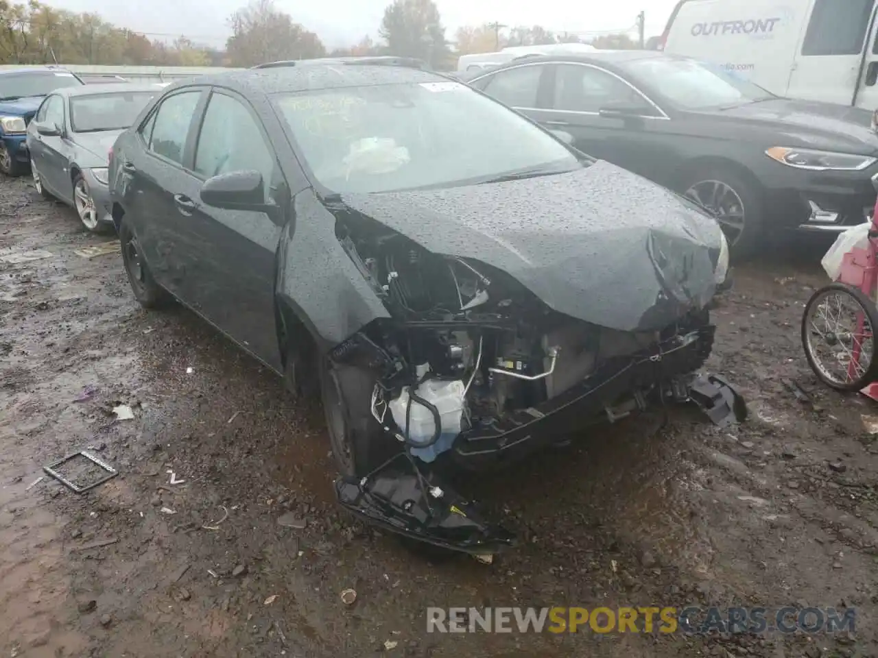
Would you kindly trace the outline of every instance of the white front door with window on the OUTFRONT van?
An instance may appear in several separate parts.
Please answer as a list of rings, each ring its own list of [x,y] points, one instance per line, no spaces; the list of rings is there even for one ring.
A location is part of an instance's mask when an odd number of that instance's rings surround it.
[[[789,76],[788,97],[853,104],[854,91],[864,75],[874,4],[874,0],[814,0]]]

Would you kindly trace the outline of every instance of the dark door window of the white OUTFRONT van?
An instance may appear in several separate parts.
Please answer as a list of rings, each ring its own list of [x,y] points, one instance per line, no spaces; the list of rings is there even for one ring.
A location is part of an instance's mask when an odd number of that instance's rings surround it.
[[[816,0],[802,41],[802,54],[860,54],[873,5],[874,0]]]

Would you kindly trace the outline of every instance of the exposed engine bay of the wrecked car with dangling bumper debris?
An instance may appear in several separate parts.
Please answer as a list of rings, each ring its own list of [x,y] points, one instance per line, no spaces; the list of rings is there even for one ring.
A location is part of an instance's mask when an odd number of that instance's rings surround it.
[[[407,456],[336,483],[342,504],[364,519],[440,546],[493,553],[511,535],[462,511],[457,494],[449,503],[450,490],[435,480],[437,458],[481,468],[563,440],[589,418],[622,418],[652,393],[663,403],[693,399],[690,374],[713,343],[708,311],[681,311],[661,331],[609,329],[551,310],[485,263],[432,254],[358,213],[337,217],[338,240],[390,318],[363,327],[330,359],[374,375],[371,417]],[[714,395],[711,385],[718,386],[702,382],[699,399],[728,406],[714,409],[716,418],[740,415],[737,395]],[[470,519],[463,529],[455,509]]]

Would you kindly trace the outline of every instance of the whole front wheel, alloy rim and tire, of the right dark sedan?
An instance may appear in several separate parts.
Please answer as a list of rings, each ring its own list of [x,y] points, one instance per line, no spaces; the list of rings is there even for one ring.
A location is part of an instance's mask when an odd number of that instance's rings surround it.
[[[733,168],[717,166],[687,175],[680,189],[716,218],[731,254],[746,258],[756,253],[763,239],[763,204],[756,184]]]

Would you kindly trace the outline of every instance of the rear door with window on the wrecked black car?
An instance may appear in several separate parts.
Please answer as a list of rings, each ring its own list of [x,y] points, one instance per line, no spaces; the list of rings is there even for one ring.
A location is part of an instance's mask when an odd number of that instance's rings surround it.
[[[126,182],[120,187],[126,220],[133,224],[140,253],[156,281],[184,302],[185,258],[180,252],[198,245],[179,242],[176,225],[191,215],[180,200],[198,190],[184,164],[191,161],[195,126],[206,100],[205,87],[184,87],[162,98],[141,123],[133,147],[119,153],[124,159],[120,167]]]

